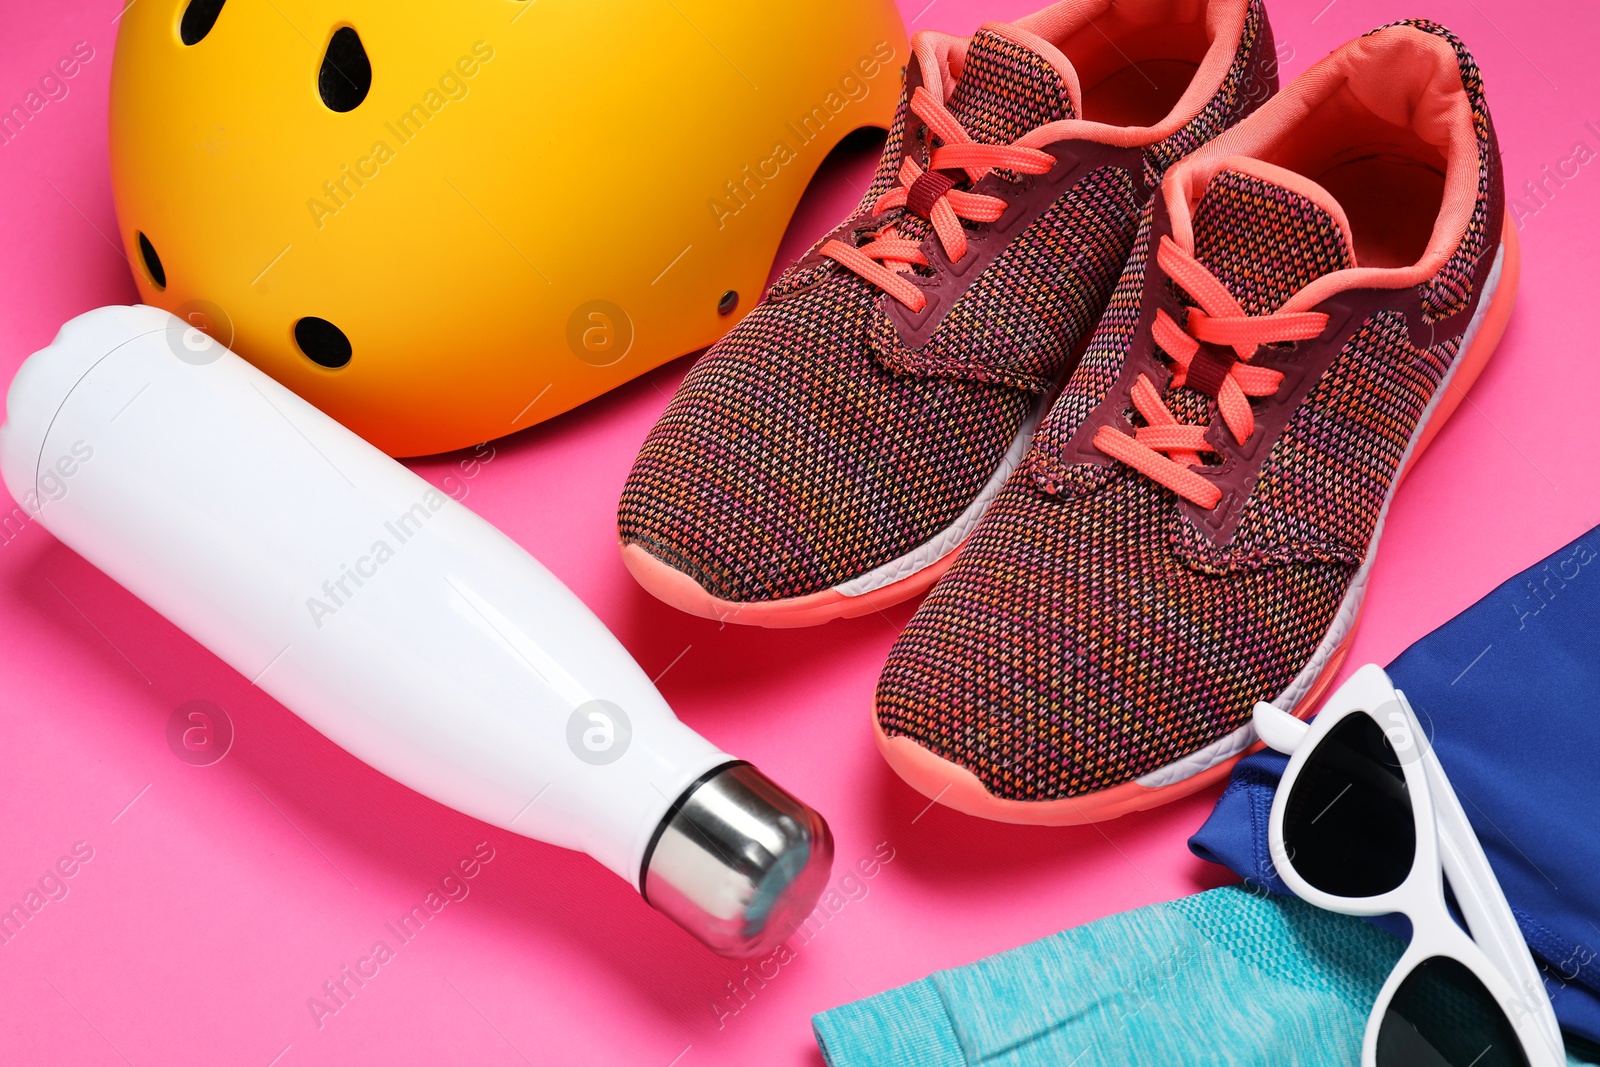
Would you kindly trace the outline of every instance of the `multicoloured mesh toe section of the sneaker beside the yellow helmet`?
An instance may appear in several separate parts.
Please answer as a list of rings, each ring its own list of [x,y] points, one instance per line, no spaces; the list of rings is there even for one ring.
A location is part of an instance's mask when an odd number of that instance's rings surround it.
[[[634,462],[622,541],[725,600],[778,600],[904,555],[960,515],[1030,397],[888,371],[866,344],[872,296],[834,277],[765,302],[696,363]]]

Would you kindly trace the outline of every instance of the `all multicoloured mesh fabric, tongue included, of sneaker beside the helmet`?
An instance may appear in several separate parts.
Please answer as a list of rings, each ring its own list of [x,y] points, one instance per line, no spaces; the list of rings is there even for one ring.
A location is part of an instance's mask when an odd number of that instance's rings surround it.
[[[1173,139],[1214,136],[1253,106],[1262,40],[1251,5],[1240,61],[1195,120],[1205,128],[1190,123]],[[898,163],[904,109],[875,190]],[[1070,117],[1072,101],[1045,59],[981,30],[949,110],[974,139],[1005,144]],[[1168,149],[1147,149],[1144,166]],[[733,601],[819,592],[926,542],[978,498],[1088,336],[1138,211],[1126,171],[1085,176],[982,270],[915,371],[886,341],[894,326],[878,290],[814,258],[790,267],[690,371],[650,432],[622,491],[622,542]],[[896,214],[901,232],[926,234],[922,219]]]

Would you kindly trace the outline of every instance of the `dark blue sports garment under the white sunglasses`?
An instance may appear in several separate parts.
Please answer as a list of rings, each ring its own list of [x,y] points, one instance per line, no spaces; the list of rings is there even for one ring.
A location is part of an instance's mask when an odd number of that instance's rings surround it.
[[[1600,530],[1504,582],[1387,670],[1432,737],[1562,1029],[1600,1043]],[[1288,893],[1267,854],[1286,763],[1275,752],[1242,760],[1189,841],[1272,893]]]

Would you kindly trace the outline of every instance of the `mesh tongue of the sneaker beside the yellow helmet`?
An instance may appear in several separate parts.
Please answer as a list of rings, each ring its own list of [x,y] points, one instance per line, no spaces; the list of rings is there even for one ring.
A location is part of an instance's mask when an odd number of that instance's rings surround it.
[[[1021,32],[1016,35],[1032,37]],[[1042,40],[1038,45],[1054,51]],[[1054,59],[1070,70],[1061,53],[1056,53]],[[973,141],[1011,144],[1035,126],[1074,118],[1075,90],[1077,86],[1069,85],[1069,78],[1034,48],[1019,45],[992,29],[981,29],[966,46],[962,77],[950,94],[949,109]]]

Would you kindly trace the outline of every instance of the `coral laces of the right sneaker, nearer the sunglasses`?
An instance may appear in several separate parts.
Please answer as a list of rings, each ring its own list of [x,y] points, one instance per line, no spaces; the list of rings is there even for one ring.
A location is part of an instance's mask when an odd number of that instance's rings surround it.
[[[1152,334],[1174,365],[1171,387],[1189,386],[1216,398],[1222,422],[1243,445],[1256,429],[1250,397],[1270,397],[1283,381],[1278,371],[1251,366],[1250,357],[1262,344],[1315,338],[1328,325],[1328,317],[1322,312],[1246,315],[1227,286],[1170,237],[1162,238],[1155,261],[1198,304],[1189,310],[1187,331],[1165,310],[1155,315]],[[1202,349],[1202,341],[1230,346],[1232,354]],[[1216,507],[1222,491],[1194,472],[1202,466],[1200,453],[1216,451],[1205,438],[1208,427],[1173,418],[1146,374],[1139,374],[1131,395],[1146,426],[1133,434],[1102,426],[1094,435],[1094,446],[1186,501]]]

